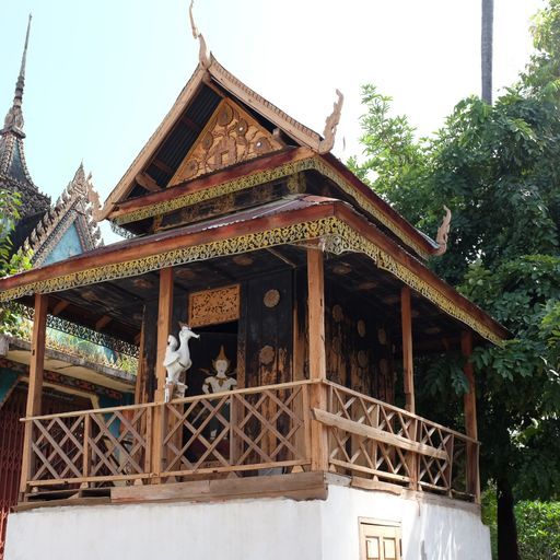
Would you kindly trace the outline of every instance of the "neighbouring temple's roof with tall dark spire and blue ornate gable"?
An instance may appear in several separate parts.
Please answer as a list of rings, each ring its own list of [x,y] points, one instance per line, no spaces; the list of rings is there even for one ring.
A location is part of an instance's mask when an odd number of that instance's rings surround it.
[[[21,197],[20,220],[12,234],[14,250],[32,249],[33,264],[42,265],[97,247],[101,234],[91,218],[89,199],[93,185],[90,177],[85,178],[82,165],[55,207],[37,188],[27,170],[22,104],[30,30],[31,15],[13,103],[0,130],[0,189],[18,192]]]

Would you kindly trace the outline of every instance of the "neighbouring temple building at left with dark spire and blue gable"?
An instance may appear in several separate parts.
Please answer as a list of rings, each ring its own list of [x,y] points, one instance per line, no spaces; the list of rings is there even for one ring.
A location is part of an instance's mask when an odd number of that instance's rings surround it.
[[[27,168],[22,102],[28,32],[13,103],[0,130],[0,189],[21,199],[12,250],[28,253],[37,268],[98,247],[101,232],[92,218],[93,185],[82,165],[55,205]],[[32,355],[33,310],[13,305],[11,311],[19,315],[16,332],[0,327],[0,560],[7,516],[18,503],[24,432],[20,419],[25,416]],[[115,357],[125,350],[133,359],[136,346],[69,323],[59,317],[59,311],[51,310],[46,330],[42,410],[67,412],[130,402],[135,376],[118,368]],[[1,317],[0,310],[0,322]]]

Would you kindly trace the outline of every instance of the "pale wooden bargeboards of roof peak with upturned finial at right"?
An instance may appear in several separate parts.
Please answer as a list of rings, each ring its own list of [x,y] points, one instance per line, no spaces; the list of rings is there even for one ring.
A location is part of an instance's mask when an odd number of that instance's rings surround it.
[[[201,38],[200,34],[198,38]],[[155,155],[158,149],[172,131],[174,125],[180,118],[202,84],[212,84],[213,82],[214,88],[218,85],[223,91],[231,94],[234,101],[241,102],[243,105],[269,120],[301,147],[308,148],[316,153],[327,153],[332,149],[343,101],[343,96],[340,92],[337,91],[338,101],[335,103],[332,114],[326,120],[326,137],[323,138],[245,85],[220,65],[212,54],[206,54],[206,43],[201,42],[200,45],[200,59],[202,62],[199,62],[172,108],[142,148],[122,178],[118,182],[117,186],[109,194],[103,207],[96,205],[93,213],[95,220],[102,221],[109,218],[115,207],[132,190],[136,178],[143,172],[149,161]],[[208,62],[205,61],[205,56],[208,56]]]

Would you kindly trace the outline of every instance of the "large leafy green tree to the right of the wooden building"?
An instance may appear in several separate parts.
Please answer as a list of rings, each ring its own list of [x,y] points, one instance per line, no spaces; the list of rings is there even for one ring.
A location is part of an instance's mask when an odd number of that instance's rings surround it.
[[[406,117],[390,115],[390,100],[364,86],[364,161],[349,162],[425,232],[436,231],[443,205],[453,210],[448,250],[430,266],[514,335],[474,357],[482,474],[495,481],[508,560],[518,558],[515,500],[560,495],[560,0],[533,34],[536,55],[520,82],[493,106],[463,100],[430,139],[417,140]],[[435,388],[452,374],[460,392],[456,361],[439,363],[418,374],[439,375]]]

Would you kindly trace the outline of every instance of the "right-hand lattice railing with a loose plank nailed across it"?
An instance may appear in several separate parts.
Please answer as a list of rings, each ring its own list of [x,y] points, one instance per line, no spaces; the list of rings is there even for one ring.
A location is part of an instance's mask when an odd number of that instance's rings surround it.
[[[342,474],[475,499],[466,447],[478,442],[400,408],[327,383],[329,464]]]

